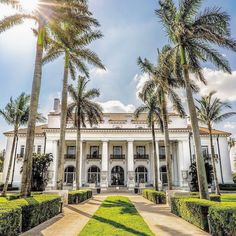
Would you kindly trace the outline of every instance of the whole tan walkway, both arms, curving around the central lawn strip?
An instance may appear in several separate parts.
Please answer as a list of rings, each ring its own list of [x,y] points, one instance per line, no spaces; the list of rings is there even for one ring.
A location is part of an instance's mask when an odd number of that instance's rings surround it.
[[[185,220],[170,213],[166,205],[156,205],[142,196],[129,193],[100,194],[88,202],[70,205],[64,213],[22,234],[22,236],[74,236],[78,235],[102,201],[110,195],[127,196],[135,205],[150,229],[158,236],[209,235]]]

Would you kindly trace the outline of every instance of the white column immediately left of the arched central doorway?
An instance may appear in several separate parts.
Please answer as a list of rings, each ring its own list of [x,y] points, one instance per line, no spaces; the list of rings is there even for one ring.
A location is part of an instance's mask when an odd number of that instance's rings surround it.
[[[102,171],[101,171],[101,188],[108,187],[108,140],[102,141]]]

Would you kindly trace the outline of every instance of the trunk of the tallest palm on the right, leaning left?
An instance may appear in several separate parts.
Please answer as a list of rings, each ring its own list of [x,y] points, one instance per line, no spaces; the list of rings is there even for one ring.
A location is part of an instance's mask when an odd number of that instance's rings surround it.
[[[183,66],[184,80],[185,80],[186,94],[187,94],[187,101],[188,101],[188,109],[189,109],[191,125],[192,125],[192,130],[193,130],[194,144],[195,144],[200,198],[209,199],[206,169],[205,169],[205,164],[204,164],[204,160],[202,157],[202,150],[201,150],[201,140],[200,140],[197,112],[196,112],[196,107],[193,100],[192,89],[190,86],[189,70],[188,70],[188,64],[186,61],[185,48],[183,46],[181,46],[180,56],[181,56],[181,63]]]

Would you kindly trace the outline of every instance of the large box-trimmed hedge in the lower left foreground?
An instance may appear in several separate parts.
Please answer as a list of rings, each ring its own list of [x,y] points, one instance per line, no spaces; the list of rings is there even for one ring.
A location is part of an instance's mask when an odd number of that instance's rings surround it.
[[[0,235],[18,235],[60,213],[61,198],[37,195],[0,203]],[[6,233],[7,232],[7,233]]]

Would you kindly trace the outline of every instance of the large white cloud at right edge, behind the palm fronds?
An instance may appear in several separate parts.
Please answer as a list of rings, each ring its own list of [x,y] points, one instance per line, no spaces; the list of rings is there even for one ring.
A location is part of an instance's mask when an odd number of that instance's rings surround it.
[[[207,95],[211,91],[217,92],[217,97],[222,100],[236,101],[236,71],[232,74],[219,70],[208,68],[203,69],[204,76],[207,80],[207,86],[198,82],[200,95]]]

